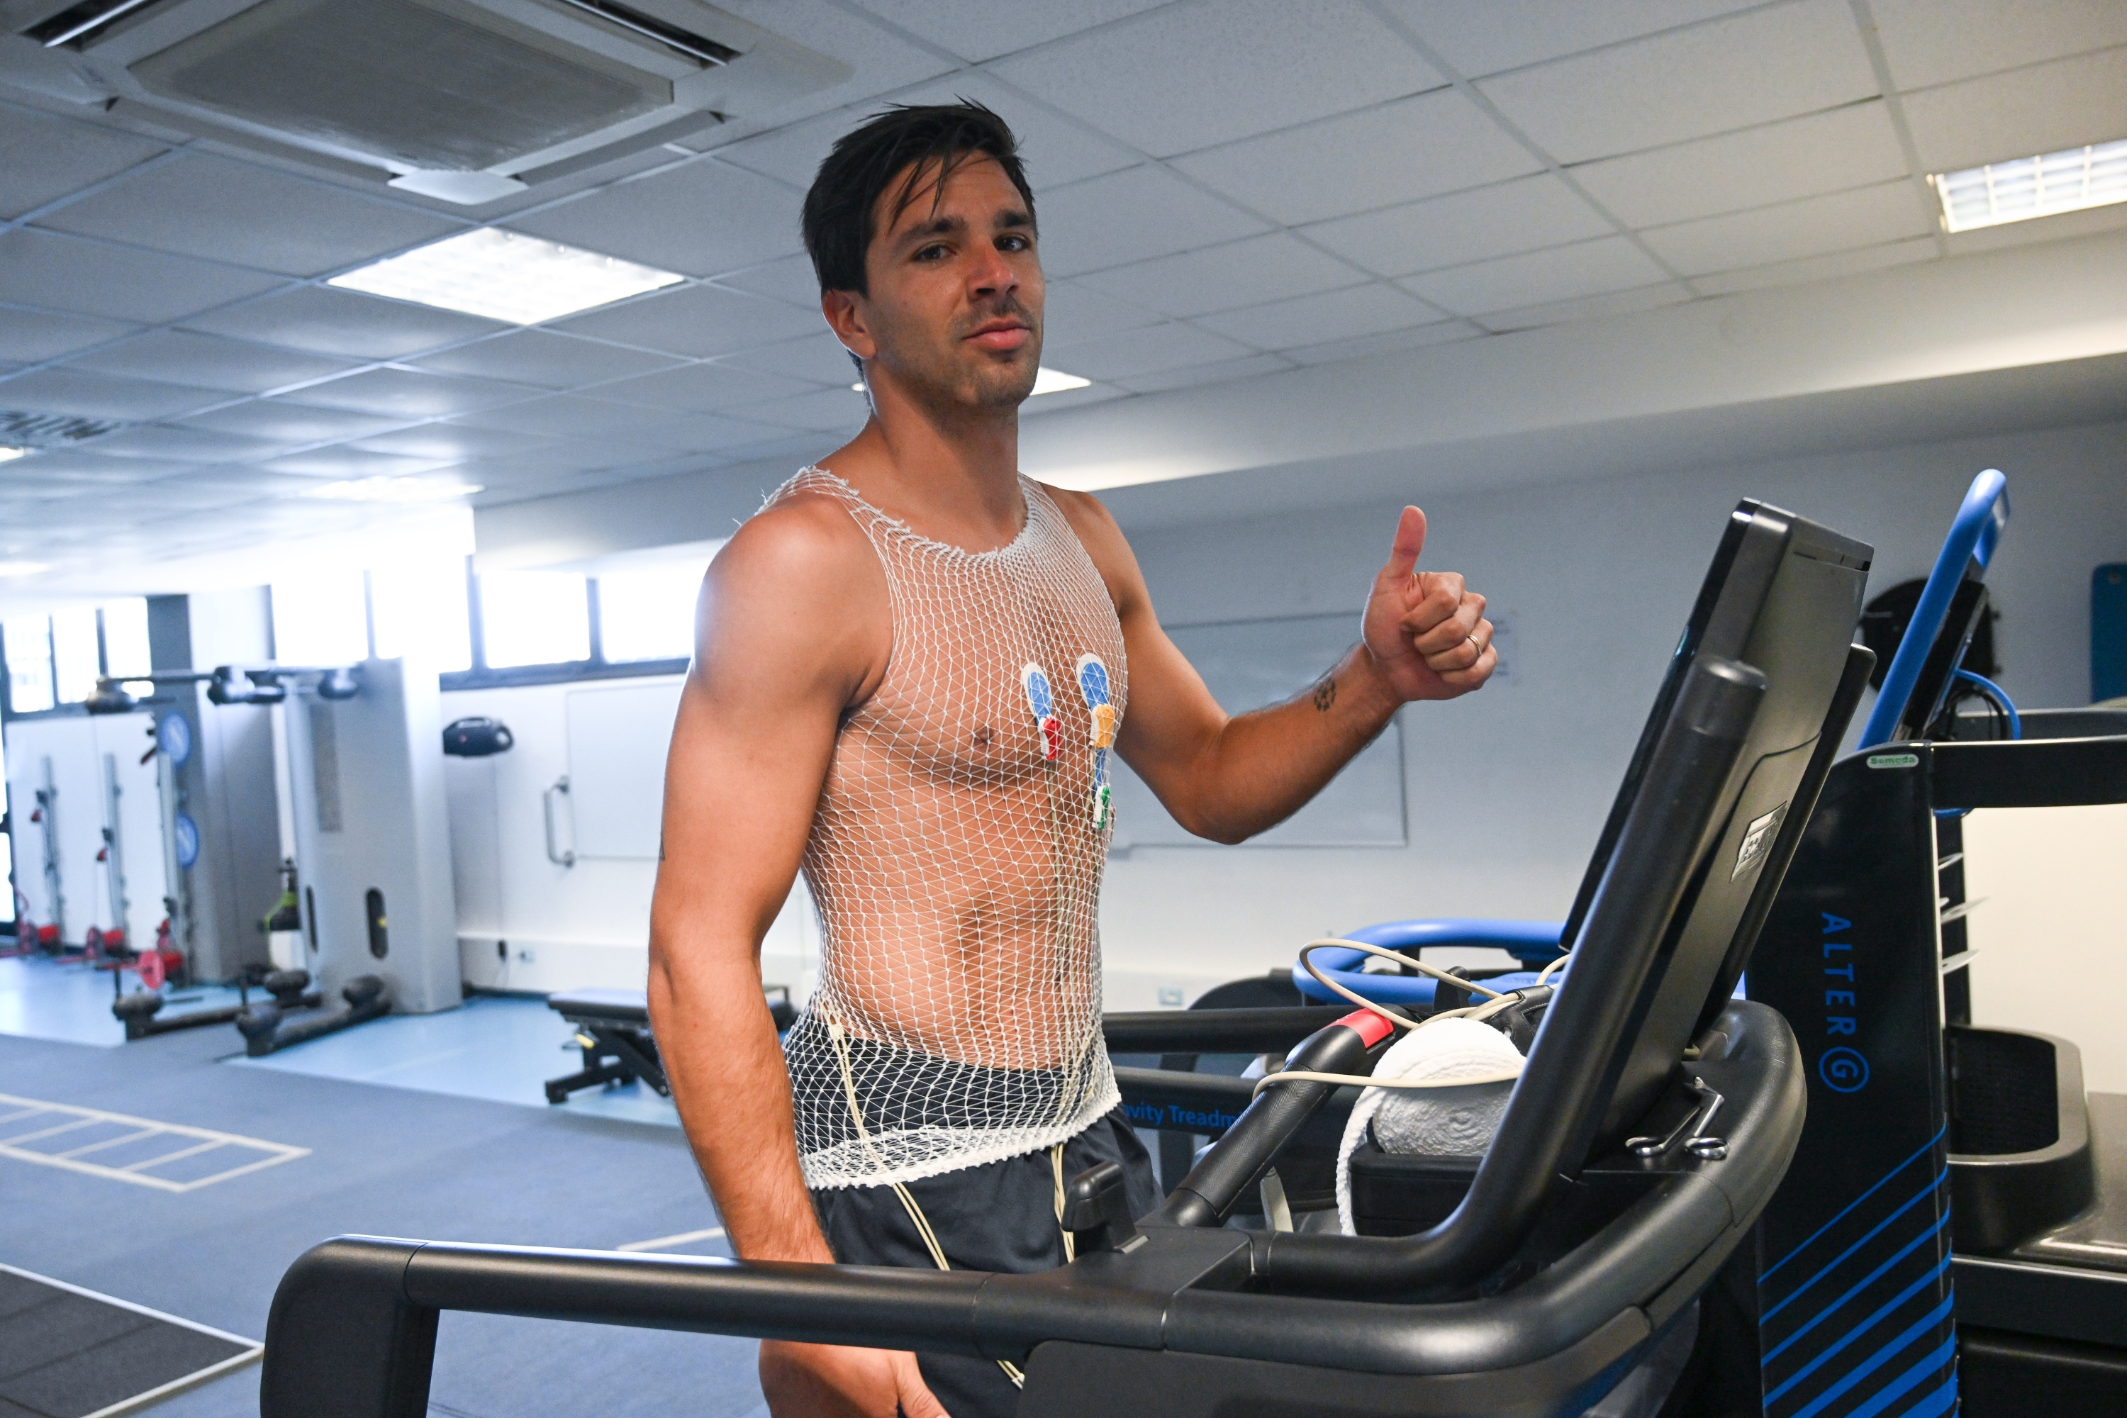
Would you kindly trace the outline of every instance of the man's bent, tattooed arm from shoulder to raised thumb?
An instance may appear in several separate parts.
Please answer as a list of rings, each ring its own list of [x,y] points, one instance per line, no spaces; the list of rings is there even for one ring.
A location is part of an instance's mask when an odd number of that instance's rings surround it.
[[[1485,597],[1455,572],[1419,572],[1425,512],[1404,508],[1361,617],[1361,640],[1287,704],[1229,716],[1153,614],[1138,559],[1108,510],[1061,493],[1108,583],[1129,655],[1117,753],[1183,827],[1244,842],[1297,812],[1412,699],[1453,699],[1500,663]]]

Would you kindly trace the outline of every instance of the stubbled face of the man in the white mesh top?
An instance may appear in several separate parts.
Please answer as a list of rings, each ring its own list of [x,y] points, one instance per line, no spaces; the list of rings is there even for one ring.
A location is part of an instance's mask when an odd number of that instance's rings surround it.
[[[857,349],[910,398],[936,408],[1017,408],[1042,355],[1042,264],[1034,217],[991,157],[944,183],[906,176],[881,196],[866,251],[868,296],[853,296],[872,349]],[[857,342],[861,344],[861,340]]]

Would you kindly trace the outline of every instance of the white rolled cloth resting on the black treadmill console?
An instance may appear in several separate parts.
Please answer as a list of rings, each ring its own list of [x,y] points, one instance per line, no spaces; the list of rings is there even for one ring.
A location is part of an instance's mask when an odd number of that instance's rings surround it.
[[[1474,1018],[1442,1018],[1412,1029],[1389,1046],[1374,1078],[1453,1080],[1521,1074],[1512,1040]],[[1351,1218],[1351,1154],[1372,1125],[1383,1152],[1474,1157],[1491,1144],[1500,1114],[1514,1091],[1512,1078],[1440,1088],[1368,1088],[1351,1110],[1336,1157],[1336,1210],[1344,1235]]]

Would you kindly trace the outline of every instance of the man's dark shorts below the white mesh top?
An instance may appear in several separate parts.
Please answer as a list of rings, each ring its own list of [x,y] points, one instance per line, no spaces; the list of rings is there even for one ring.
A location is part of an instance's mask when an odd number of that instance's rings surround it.
[[[1121,1108],[1064,1144],[1066,1182],[1098,1163],[1123,1165],[1132,1216],[1159,1205],[1153,1159]],[[923,1208],[953,1269],[1027,1273],[1064,1265],[1055,1169],[1046,1150],[908,1182],[908,1193]],[[813,1210],[842,1265],[938,1267],[891,1186],[817,1191]],[[1019,1407],[1019,1390],[987,1358],[919,1352],[917,1363],[953,1418],[1010,1418]]]

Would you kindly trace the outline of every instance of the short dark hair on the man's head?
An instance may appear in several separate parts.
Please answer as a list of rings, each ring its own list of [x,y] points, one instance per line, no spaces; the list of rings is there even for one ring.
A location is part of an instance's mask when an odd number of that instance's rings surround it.
[[[891,223],[917,198],[917,179],[936,168],[938,191],[968,157],[993,157],[1034,215],[1034,191],[1019,166],[1019,138],[983,104],[893,104],[864,128],[836,140],[804,193],[804,249],[823,291],[868,293],[864,253],[881,193],[906,170],[893,198]]]

